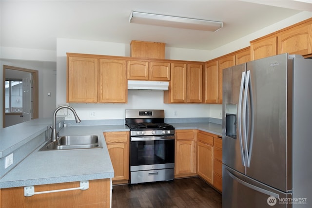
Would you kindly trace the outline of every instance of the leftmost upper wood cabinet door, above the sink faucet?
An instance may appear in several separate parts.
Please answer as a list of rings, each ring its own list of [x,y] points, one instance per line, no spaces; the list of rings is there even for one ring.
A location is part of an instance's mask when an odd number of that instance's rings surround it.
[[[67,102],[98,101],[98,58],[67,57]]]

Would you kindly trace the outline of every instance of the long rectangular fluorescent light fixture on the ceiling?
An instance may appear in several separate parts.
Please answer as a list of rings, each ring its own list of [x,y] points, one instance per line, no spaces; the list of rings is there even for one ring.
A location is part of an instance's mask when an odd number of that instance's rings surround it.
[[[131,12],[129,22],[138,24],[157,25],[163,27],[177,27],[191,30],[213,31],[213,32],[223,27],[223,22],[221,21],[181,18],[142,12]]]

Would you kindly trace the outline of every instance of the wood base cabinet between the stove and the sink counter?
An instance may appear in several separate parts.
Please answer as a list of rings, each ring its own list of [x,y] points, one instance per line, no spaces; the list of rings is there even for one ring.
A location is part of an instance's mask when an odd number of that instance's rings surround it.
[[[104,132],[103,134],[114,168],[113,184],[128,183],[129,132]]]

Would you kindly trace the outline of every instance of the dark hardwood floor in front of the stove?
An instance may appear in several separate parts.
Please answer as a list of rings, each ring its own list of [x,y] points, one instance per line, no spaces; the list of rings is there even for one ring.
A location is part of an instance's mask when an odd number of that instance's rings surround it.
[[[222,195],[199,177],[119,185],[112,208],[222,208]]]

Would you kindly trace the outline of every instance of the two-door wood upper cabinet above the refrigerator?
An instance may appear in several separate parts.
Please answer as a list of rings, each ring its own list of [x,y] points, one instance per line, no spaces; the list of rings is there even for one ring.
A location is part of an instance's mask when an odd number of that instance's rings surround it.
[[[250,42],[251,60],[278,54],[312,56],[312,19],[294,24]]]

